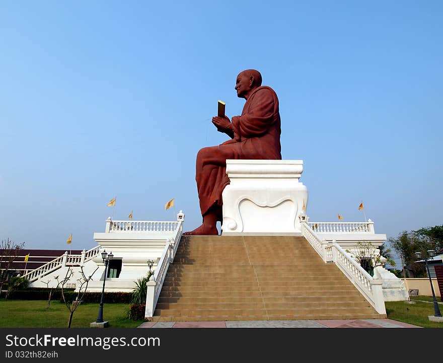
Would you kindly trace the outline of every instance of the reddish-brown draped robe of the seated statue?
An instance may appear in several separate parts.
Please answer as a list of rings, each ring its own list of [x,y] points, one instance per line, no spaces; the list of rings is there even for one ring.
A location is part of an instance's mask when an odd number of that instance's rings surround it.
[[[274,90],[262,86],[249,95],[241,116],[233,116],[234,138],[197,154],[195,180],[201,215],[223,203],[221,192],[229,184],[226,159],[281,160],[280,114]],[[219,208],[218,208],[219,209]],[[219,220],[221,213],[218,211]]]

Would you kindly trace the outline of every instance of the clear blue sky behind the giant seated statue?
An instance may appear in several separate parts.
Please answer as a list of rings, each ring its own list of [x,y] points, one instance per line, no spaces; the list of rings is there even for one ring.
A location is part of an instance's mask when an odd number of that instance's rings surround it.
[[[441,225],[443,3],[2,2],[0,238],[89,249],[114,219],[201,223],[195,157],[241,113],[239,71],[280,101],[311,221]]]

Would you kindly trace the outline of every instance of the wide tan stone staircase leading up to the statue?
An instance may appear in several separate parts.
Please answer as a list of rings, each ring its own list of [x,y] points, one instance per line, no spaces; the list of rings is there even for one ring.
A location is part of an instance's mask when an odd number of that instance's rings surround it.
[[[153,320],[379,318],[304,237],[183,236]]]

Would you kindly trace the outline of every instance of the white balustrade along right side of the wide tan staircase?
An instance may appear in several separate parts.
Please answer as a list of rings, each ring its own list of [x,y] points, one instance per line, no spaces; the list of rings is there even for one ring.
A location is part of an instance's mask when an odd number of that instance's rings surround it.
[[[322,241],[306,222],[302,233],[324,262],[335,263],[377,313],[386,314],[382,280],[368,274],[335,240],[329,244]]]

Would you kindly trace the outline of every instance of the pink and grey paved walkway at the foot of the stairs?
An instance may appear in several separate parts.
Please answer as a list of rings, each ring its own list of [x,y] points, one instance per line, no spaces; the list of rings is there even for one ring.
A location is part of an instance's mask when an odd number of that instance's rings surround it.
[[[138,328],[420,328],[391,319],[144,322]]]

